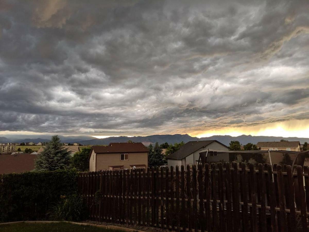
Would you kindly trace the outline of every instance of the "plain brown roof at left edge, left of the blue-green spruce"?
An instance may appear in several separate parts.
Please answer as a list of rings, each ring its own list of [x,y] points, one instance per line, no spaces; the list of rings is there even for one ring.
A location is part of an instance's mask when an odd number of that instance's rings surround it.
[[[28,172],[34,169],[34,154],[16,153],[0,155],[0,174]]]

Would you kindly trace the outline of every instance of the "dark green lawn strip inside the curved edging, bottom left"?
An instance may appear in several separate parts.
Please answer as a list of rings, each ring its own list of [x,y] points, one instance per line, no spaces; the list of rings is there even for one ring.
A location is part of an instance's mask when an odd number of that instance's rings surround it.
[[[121,230],[107,230],[95,226],[74,225],[66,222],[59,223],[18,223],[11,225],[0,225],[0,232],[120,232]]]

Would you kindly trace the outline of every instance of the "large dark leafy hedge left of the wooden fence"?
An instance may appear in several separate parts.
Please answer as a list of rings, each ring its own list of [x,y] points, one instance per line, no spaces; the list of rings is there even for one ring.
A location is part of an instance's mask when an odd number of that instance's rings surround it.
[[[61,195],[77,194],[77,175],[76,170],[0,175],[0,221],[45,219]]]

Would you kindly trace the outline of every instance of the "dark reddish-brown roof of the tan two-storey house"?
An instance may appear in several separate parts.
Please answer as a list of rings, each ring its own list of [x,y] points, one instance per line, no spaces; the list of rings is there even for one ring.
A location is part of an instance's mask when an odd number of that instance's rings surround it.
[[[132,153],[132,152],[148,152],[148,148],[142,143],[110,143],[108,146],[92,146],[95,153]]]

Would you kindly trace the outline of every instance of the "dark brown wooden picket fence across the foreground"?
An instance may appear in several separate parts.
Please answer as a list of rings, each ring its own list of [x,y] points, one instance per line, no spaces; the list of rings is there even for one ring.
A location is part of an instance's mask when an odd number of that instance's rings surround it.
[[[176,231],[308,231],[305,166],[226,162],[81,173],[89,219]]]

